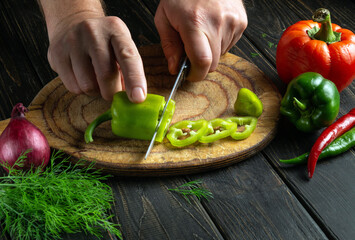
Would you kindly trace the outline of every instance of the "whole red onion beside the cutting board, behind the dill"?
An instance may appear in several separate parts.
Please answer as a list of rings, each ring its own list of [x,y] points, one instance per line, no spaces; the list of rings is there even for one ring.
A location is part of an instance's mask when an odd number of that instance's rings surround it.
[[[13,166],[21,154],[30,150],[21,168],[45,167],[50,158],[50,147],[41,130],[25,118],[27,111],[22,103],[14,106],[10,123],[0,136],[0,161]]]

